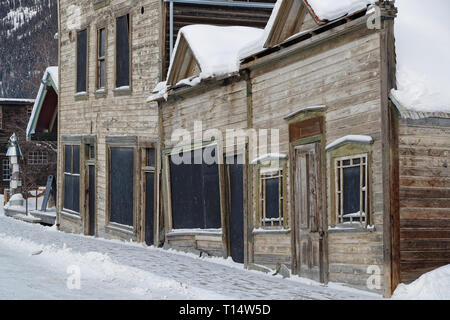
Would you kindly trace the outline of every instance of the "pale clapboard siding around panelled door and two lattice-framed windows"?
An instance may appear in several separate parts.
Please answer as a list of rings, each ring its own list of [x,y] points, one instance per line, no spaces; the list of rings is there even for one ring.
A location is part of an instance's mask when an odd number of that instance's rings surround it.
[[[266,67],[255,67],[251,74],[252,123],[256,129],[280,130],[279,152],[289,154],[288,124],[284,117],[308,106],[327,106],[324,144],[350,134],[374,138],[369,159],[369,203],[375,230],[328,234],[329,280],[363,288],[370,276],[369,266],[378,266],[381,273],[384,272],[380,50],[379,34],[361,28],[344,37],[305,48],[287,59],[275,60]],[[260,149],[265,147],[264,143],[260,144]],[[288,162],[288,173],[289,166]],[[330,176],[329,159],[326,176]],[[290,180],[288,174],[288,188]],[[330,192],[328,184],[329,215]],[[257,195],[253,192],[254,206],[256,201]],[[286,201],[292,215],[289,199]],[[259,239],[255,239],[253,246],[255,259],[261,251],[267,251]]]

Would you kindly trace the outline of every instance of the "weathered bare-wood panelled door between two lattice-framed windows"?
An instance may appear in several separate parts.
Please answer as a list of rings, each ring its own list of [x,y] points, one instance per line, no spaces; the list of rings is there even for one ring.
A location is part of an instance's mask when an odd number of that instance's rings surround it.
[[[320,154],[320,143],[295,148],[294,212],[297,272],[323,282]]]

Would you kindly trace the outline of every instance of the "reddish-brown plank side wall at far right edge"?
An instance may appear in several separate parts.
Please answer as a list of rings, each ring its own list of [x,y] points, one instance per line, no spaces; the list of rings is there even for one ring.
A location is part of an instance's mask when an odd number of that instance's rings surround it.
[[[450,120],[400,120],[400,281],[450,263]]]

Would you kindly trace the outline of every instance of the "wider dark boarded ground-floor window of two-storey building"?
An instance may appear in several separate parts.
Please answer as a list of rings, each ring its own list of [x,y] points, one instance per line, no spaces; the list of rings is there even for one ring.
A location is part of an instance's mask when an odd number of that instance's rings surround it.
[[[133,226],[134,149],[111,147],[109,167],[110,222]]]

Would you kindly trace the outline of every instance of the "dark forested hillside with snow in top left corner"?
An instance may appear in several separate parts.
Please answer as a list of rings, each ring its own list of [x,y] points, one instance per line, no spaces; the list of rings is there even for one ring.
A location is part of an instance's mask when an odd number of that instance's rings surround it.
[[[34,98],[57,64],[57,32],[56,0],[0,1],[0,97]]]

